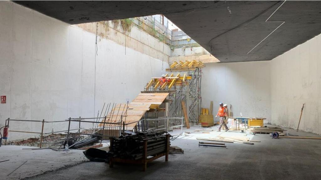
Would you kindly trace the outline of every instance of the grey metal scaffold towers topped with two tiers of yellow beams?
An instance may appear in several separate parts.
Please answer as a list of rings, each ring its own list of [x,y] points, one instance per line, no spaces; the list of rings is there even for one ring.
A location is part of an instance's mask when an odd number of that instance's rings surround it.
[[[170,79],[168,83],[160,85],[160,78],[152,78],[142,93],[168,92],[169,93],[169,111],[168,117],[184,117],[182,110],[182,101],[186,102],[187,116],[192,125],[199,122],[201,113],[201,80],[202,68],[205,67],[200,61],[178,61],[173,62],[169,72],[179,72],[176,76],[171,73],[166,74],[166,79]],[[182,76],[180,76],[182,75]],[[173,124],[175,126],[175,124]]]

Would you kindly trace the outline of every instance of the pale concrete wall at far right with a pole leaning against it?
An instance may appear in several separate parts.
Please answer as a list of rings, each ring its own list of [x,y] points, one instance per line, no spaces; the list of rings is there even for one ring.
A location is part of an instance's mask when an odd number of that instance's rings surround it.
[[[271,61],[272,123],[321,134],[321,35]]]

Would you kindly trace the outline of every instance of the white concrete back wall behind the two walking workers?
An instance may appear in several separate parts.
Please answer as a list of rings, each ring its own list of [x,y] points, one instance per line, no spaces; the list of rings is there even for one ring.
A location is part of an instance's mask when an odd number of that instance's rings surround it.
[[[202,107],[213,114],[219,103],[232,105],[233,116],[263,117],[271,121],[270,61],[207,63],[202,76]]]

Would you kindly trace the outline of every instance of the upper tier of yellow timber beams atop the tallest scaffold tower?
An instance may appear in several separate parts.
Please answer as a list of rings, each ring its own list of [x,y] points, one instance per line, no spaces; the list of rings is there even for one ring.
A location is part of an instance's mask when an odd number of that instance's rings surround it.
[[[205,67],[205,65],[201,61],[175,61],[169,66],[169,69],[166,69],[166,71],[192,71],[196,68],[203,67]]]

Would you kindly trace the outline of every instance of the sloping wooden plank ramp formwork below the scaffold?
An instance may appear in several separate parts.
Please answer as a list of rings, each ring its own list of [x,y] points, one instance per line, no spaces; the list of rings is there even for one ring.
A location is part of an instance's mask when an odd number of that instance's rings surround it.
[[[169,93],[140,93],[132,102],[119,103],[112,107],[109,111],[106,120],[103,119],[101,122],[110,123],[122,123],[125,122],[126,130],[133,130],[137,125],[138,121],[145,115],[150,109],[159,108],[160,104],[164,102]],[[99,125],[103,127],[103,124]],[[105,125],[103,135],[118,136],[119,127],[113,127],[115,125]]]

